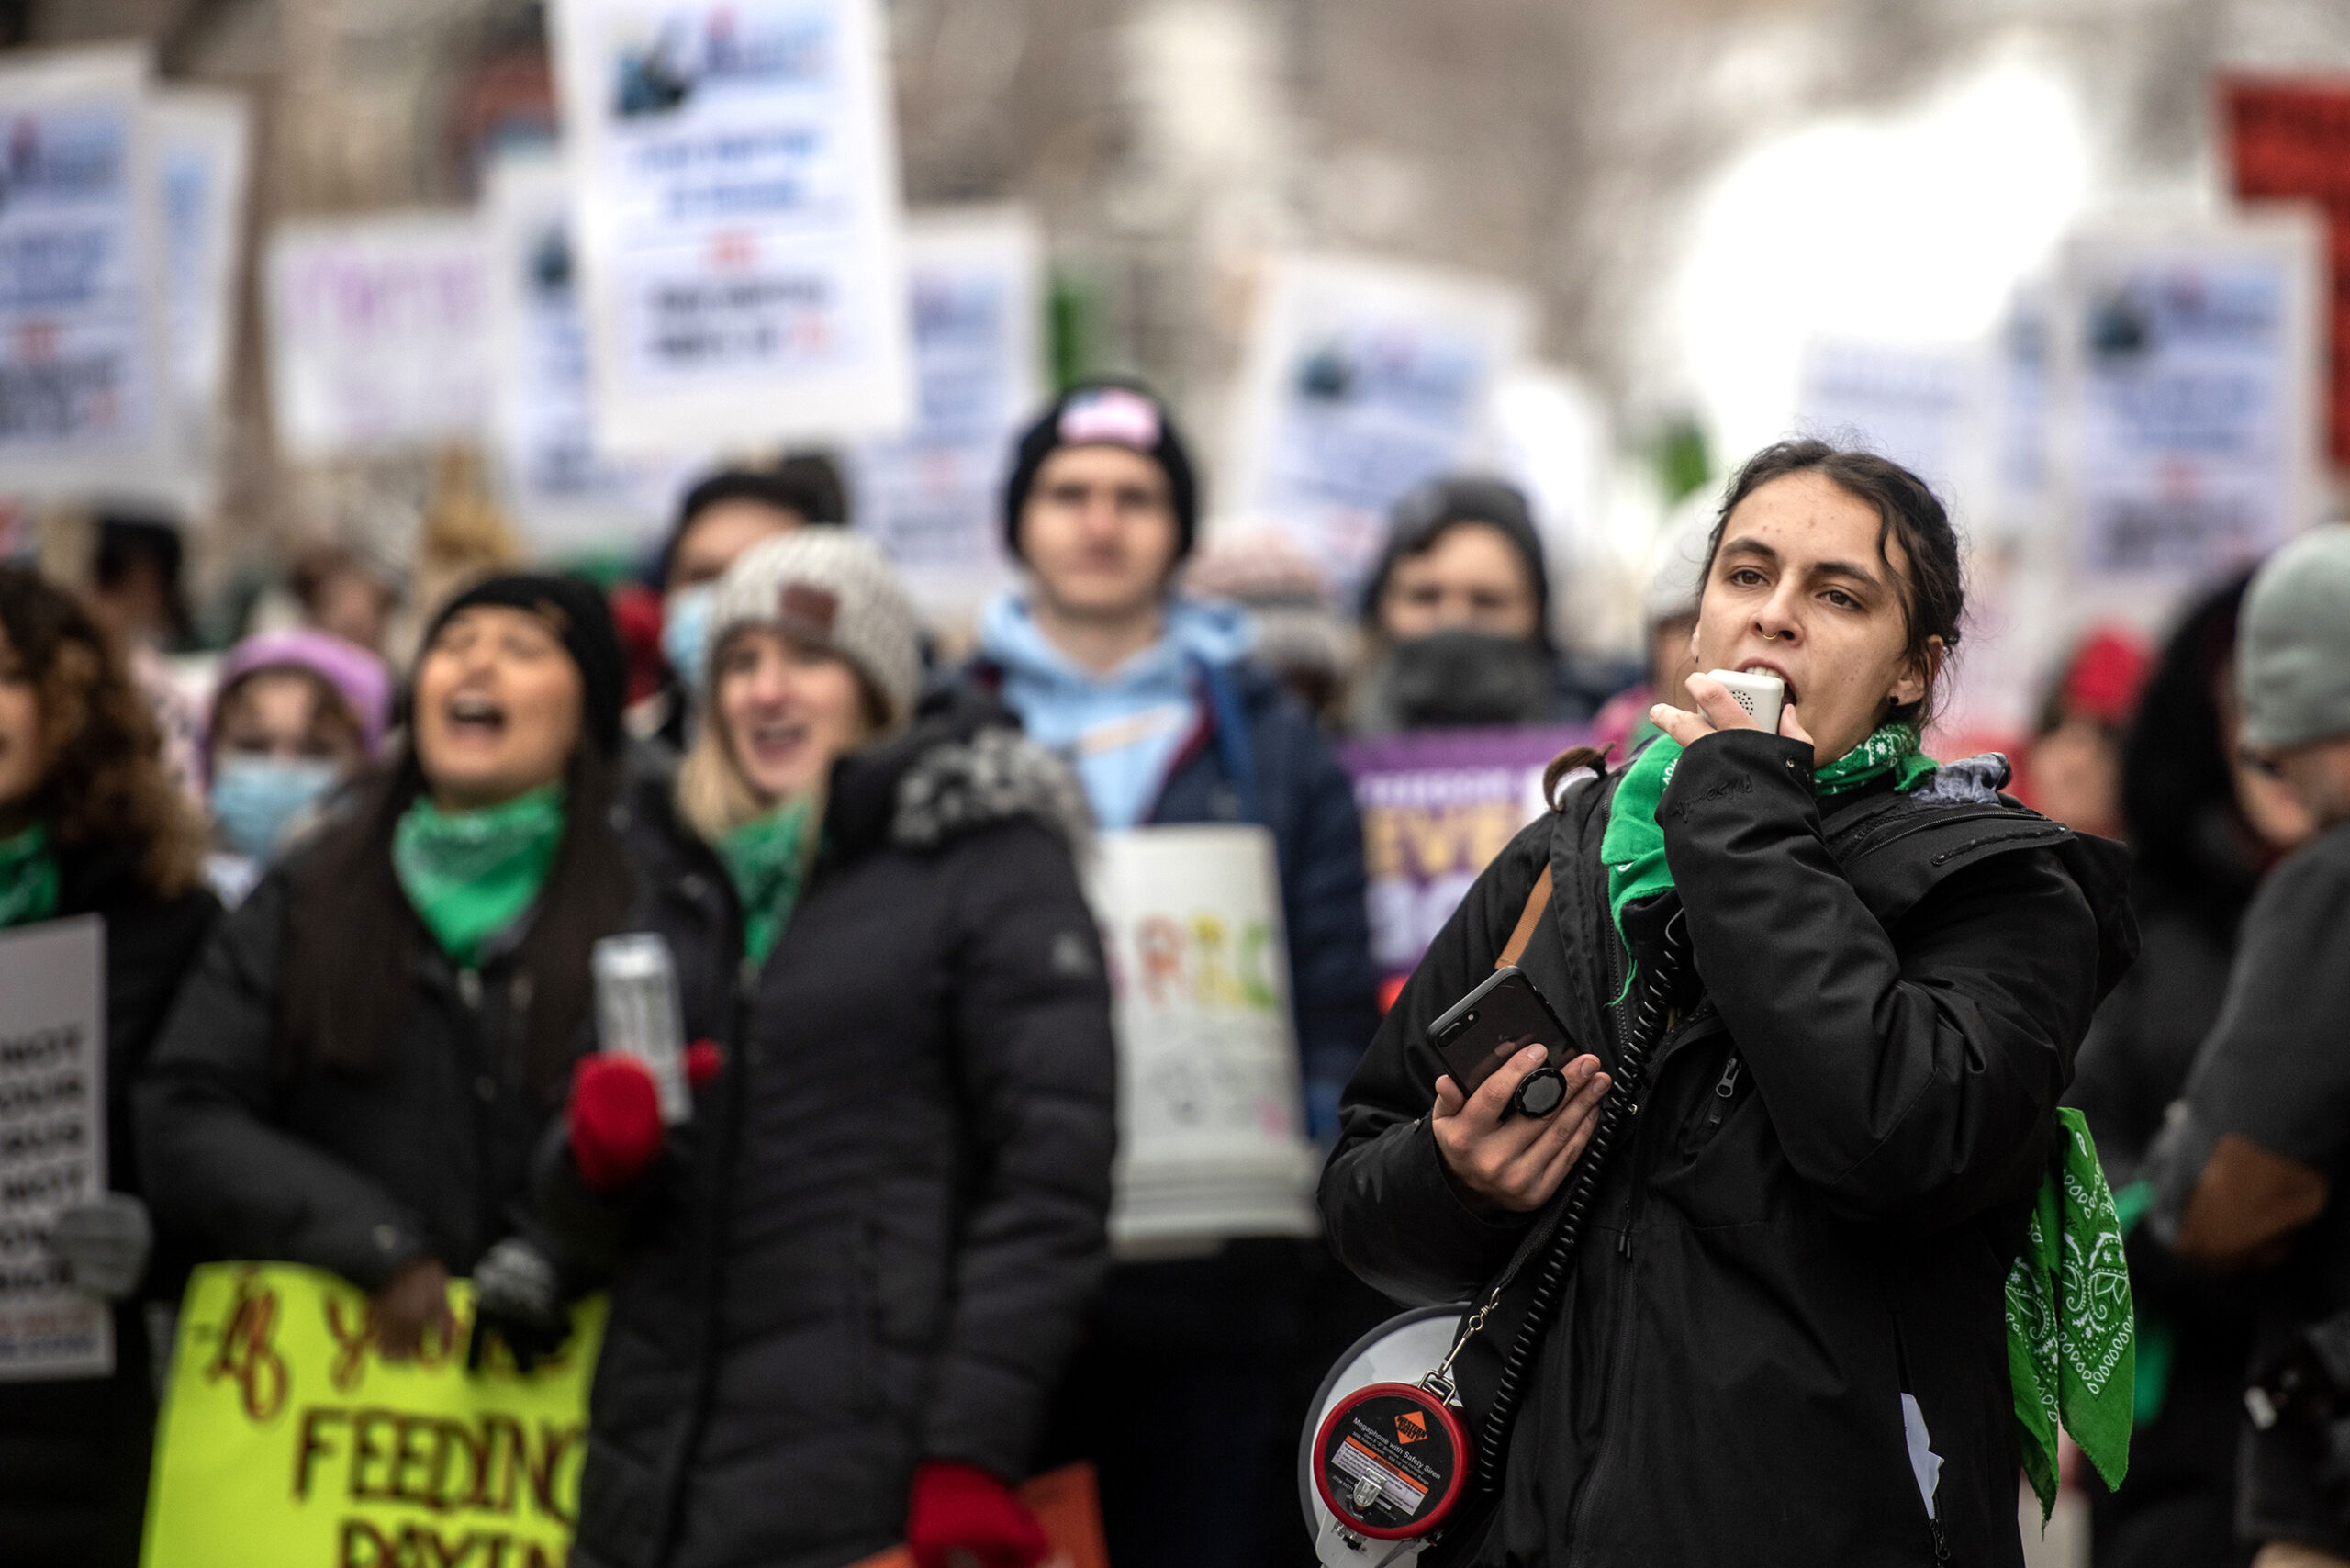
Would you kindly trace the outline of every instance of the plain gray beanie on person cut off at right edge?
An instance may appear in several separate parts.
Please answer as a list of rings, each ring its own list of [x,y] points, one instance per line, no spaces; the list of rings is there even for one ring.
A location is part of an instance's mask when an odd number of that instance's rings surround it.
[[[2235,684],[2247,745],[2350,736],[2350,527],[2287,541],[2251,578]]]

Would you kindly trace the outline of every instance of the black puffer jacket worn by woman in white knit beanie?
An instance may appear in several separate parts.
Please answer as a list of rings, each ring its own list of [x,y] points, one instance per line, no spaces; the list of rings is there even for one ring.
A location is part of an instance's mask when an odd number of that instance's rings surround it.
[[[902,1535],[926,1458],[1020,1476],[1107,1265],[1109,992],[1076,795],[987,698],[834,771],[768,954],[710,849],[639,790],[637,929],[726,1065],[611,1269],[580,1568],[832,1568]],[[613,1215],[552,1161],[576,1255]]]

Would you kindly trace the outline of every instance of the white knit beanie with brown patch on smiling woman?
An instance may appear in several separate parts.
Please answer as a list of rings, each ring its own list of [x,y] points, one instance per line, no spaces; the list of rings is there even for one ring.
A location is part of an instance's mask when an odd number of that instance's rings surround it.
[[[766,625],[839,654],[888,703],[888,724],[921,696],[914,602],[881,548],[839,527],[792,529],[745,550],[710,604],[710,679],[717,651],[743,625]]]

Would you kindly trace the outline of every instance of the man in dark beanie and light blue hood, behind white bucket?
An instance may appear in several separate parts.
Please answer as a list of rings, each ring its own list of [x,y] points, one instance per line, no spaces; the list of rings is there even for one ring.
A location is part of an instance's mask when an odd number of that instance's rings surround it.
[[[1027,585],[987,609],[971,679],[1072,759],[1104,830],[1271,830],[1304,1119],[1332,1135],[1377,1025],[1363,825],[1314,717],[1248,661],[1246,616],[1175,595],[1198,524],[1175,421],[1137,386],[1065,393],[1020,437],[1003,524]],[[1311,1394],[1292,1387],[1304,1347],[1314,1331],[1347,1345],[1384,1307],[1318,1244],[1241,1239],[1119,1267],[1055,1422],[1055,1446],[1100,1465],[1112,1559],[1290,1549],[1295,1476],[1276,1432]],[[1196,1502],[1170,1512],[1170,1493]]]

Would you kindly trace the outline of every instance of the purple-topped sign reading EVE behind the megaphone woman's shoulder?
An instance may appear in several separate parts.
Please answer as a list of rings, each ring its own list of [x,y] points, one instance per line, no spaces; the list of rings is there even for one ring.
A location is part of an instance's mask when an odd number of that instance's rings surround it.
[[[1572,724],[1424,729],[1340,748],[1363,813],[1370,957],[1389,987],[1412,973],[1478,872],[1542,816],[1542,769],[1586,738]]]

